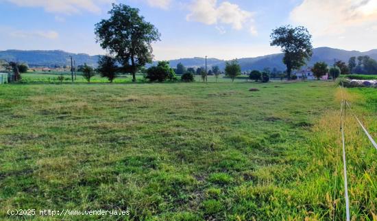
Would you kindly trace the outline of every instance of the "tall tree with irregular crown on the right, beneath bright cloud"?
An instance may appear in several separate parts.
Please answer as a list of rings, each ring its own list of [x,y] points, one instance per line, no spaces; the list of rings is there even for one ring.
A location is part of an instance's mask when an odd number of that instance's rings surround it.
[[[285,25],[271,33],[271,46],[278,46],[284,52],[283,62],[287,66],[288,78],[293,69],[300,69],[313,55],[311,34],[306,27]]]

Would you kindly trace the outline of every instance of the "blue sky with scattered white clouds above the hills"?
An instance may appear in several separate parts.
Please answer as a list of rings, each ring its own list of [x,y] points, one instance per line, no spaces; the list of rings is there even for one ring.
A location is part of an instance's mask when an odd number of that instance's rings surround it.
[[[94,25],[112,3],[140,9],[161,33],[155,60],[279,53],[271,30],[304,25],[314,47],[377,49],[377,0],[0,0],[0,50],[105,54]]]

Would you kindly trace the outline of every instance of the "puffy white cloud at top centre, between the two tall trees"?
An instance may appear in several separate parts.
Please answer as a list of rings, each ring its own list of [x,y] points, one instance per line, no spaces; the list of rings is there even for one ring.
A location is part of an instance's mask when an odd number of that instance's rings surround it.
[[[248,24],[251,26],[250,33],[256,34],[253,13],[242,10],[239,5],[228,1],[217,5],[217,0],[195,0],[189,6],[189,10],[191,13],[186,16],[187,21],[197,21],[206,25],[231,25],[234,30],[242,30]],[[218,26],[217,29],[219,30]]]

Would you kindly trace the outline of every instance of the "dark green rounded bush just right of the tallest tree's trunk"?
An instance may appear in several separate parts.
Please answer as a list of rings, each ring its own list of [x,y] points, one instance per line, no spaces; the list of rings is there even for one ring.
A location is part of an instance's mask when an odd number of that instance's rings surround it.
[[[163,82],[165,80],[177,80],[174,70],[170,67],[168,61],[159,61],[157,66],[149,67],[147,76],[150,81]]]

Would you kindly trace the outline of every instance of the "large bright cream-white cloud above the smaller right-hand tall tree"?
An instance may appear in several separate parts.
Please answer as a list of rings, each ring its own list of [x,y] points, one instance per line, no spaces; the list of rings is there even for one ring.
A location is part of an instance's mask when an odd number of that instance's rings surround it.
[[[336,35],[377,22],[377,0],[304,0],[291,20],[317,36]]]

